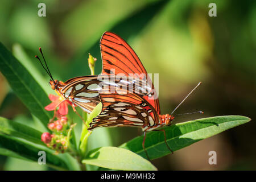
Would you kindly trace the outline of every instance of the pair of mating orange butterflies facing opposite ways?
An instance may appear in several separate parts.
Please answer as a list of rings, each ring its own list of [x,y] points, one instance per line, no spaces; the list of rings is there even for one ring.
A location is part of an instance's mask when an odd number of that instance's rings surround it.
[[[143,67],[141,60],[139,60],[137,54],[125,40],[112,32],[105,32],[102,35],[100,47],[103,65],[101,75],[115,77],[112,82],[103,82],[103,85],[105,85],[104,89],[100,86],[102,82],[99,81],[99,76],[82,76],[61,82],[53,80],[47,65],[47,69],[44,67],[51,77],[49,83],[52,89],[55,89],[61,94],[65,100],[72,102],[74,111],[75,105],[77,105],[85,112],[90,113],[99,102],[102,102],[101,113],[93,119],[88,130],[93,130],[97,127],[142,127],[145,140],[146,131],[156,130],[159,127],[170,125],[174,116],[172,114],[160,115],[159,101],[154,85],[152,85],[150,78],[147,77],[146,69]],[[40,52],[42,53],[41,49]],[[119,78],[116,78],[119,74],[122,74],[127,80],[131,81],[120,81]],[[132,79],[130,79],[131,77]],[[146,84],[142,84],[142,82],[146,82]],[[122,94],[124,90],[121,88],[124,86],[124,83],[126,83],[126,86],[132,84],[133,86],[131,88],[133,91],[143,90],[144,92],[136,93],[128,90],[127,93]],[[110,92],[112,86],[117,88],[115,92]],[[165,133],[164,137],[166,137]],[[144,140],[142,143],[143,148]],[[168,148],[171,150],[170,147]]]

